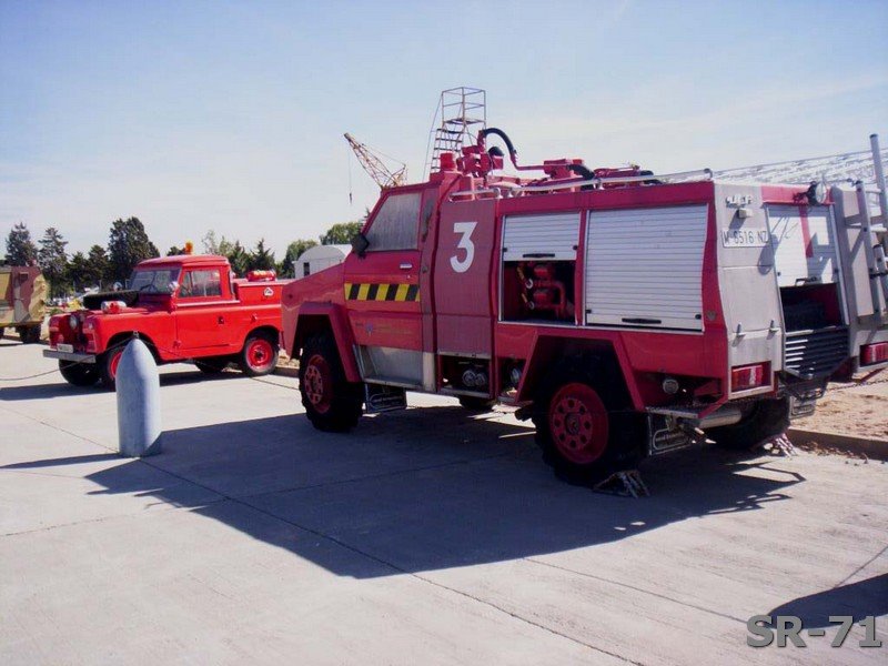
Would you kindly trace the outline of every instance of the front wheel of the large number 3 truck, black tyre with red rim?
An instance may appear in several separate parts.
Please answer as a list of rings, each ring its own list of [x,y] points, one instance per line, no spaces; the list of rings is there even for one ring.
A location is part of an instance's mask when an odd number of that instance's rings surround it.
[[[363,385],[345,379],[336,343],[329,335],[315,335],[302,349],[299,391],[305,414],[317,430],[343,433],[357,425]]]

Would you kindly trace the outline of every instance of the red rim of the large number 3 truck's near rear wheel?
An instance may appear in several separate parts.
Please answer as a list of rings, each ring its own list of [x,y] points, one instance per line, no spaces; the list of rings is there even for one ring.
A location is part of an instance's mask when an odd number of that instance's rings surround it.
[[[558,390],[549,404],[548,426],[558,452],[572,463],[594,463],[607,447],[607,410],[586,384]]]

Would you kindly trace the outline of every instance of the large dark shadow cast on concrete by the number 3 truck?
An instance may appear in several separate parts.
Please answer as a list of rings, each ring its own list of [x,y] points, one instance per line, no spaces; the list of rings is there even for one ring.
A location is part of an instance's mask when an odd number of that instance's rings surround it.
[[[169,472],[169,484],[138,487],[127,470],[141,464]],[[653,494],[643,500],[567,485],[543,464],[532,430],[446,406],[365,417],[345,435],[319,433],[304,415],[171,431],[161,455],[87,478],[95,494],[162,501],[188,480],[230,500],[195,512],[359,578],[607,544],[756,511],[804,481],[777,460],[718,450],[652,460],[643,473]]]

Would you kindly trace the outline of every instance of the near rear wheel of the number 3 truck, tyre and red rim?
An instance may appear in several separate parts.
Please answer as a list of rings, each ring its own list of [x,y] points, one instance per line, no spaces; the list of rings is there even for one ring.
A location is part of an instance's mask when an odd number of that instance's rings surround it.
[[[536,442],[566,481],[595,483],[635,468],[643,457],[644,418],[627,408],[625,390],[613,376],[595,361],[574,363],[555,369],[537,393]]]

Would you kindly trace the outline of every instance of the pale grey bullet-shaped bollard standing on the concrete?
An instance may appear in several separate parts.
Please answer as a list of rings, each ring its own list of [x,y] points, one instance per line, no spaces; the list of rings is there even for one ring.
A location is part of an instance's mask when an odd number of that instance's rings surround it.
[[[154,357],[138,337],[123,354],[117,372],[118,450],[120,455],[142,457],[160,453],[160,375]]]

